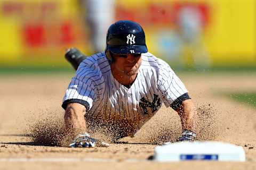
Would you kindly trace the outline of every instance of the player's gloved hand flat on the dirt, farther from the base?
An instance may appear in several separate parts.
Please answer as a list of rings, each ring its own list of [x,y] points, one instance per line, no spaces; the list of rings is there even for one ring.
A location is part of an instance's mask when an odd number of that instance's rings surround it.
[[[109,143],[102,142],[98,139],[90,137],[90,134],[84,132],[78,134],[74,141],[69,145],[71,148],[94,148],[94,147],[109,147]]]

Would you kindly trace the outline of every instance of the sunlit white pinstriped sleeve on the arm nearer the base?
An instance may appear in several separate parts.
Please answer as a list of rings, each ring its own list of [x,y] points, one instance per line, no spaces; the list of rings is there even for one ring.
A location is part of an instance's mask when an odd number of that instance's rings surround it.
[[[165,106],[169,107],[177,99],[187,96],[188,90],[171,67],[164,61],[162,62],[163,64],[158,74],[158,89],[162,94]]]

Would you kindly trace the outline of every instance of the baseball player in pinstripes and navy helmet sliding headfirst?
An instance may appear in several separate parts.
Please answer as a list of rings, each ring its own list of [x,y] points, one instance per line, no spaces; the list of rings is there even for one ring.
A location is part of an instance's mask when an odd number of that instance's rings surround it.
[[[197,113],[188,90],[166,62],[148,52],[138,23],[111,24],[105,52],[86,57],[71,48],[66,58],[78,67],[62,103],[66,129],[78,134],[70,147],[109,146],[94,133],[113,141],[133,137],[163,103],[181,118],[179,141],[196,138]]]

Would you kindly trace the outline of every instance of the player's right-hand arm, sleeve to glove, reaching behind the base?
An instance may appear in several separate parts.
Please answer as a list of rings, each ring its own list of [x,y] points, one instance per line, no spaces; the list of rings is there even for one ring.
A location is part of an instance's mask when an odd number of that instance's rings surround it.
[[[197,125],[197,113],[188,90],[167,63],[163,62],[159,70],[158,88],[163,95],[166,106],[177,111],[182,124],[182,136],[179,140],[194,140]]]

